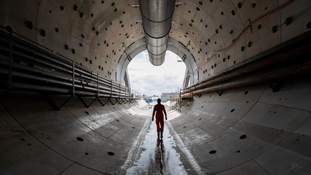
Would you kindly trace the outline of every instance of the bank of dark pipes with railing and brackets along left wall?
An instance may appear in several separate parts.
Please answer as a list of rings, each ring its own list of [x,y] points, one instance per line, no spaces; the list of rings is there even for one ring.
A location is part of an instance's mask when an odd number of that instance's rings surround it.
[[[86,107],[98,100],[103,106],[110,101],[113,105],[128,104],[130,108],[131,102],[139,100],[139,92],[13,32],[10,27],[0,27],[8,31],[0,30],[0,89],[7,93],[11,90],[42,92],[56,110],[73,96],[78,96]],[[70,98],[57,107],[49,95],[62,94]],[[86,104],[82,97],[95,98]],[[101,98],[108,101],[103,103]]]

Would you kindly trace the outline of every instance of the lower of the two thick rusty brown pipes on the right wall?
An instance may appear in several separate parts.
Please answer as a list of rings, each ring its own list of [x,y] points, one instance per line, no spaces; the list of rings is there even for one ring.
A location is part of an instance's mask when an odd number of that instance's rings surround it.
[[[279,69],[276,71],[271,71],[263,74],[259,74],[256,76],[244,78],[241,80],[231,81],[229,83],[221,84],[221,85],[215,85],[212,87],[208,87],[202,90],[196,90],[192,93],[184,94],[182,97],[193,97],[194,95],[200,95],[200,94],[207,94],[211,92],[217,91],[224,91],[224,90],[233,90],[238,88],[245,88],[245,87],[251,87],[251,86],[258,86],[258,85],[264,85],[267,84],[267,82],[282,82],[282,81],[288,81],[290,79],[295,78],[304,78],[304,77],[310,77],[311,76],[311,62],[286,67],[283,69]]]

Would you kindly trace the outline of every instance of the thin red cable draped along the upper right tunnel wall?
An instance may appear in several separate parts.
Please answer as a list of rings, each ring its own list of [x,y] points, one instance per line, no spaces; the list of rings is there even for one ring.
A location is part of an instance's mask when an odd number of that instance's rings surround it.
[[[257,20],[255,20],[255,21],[249,23],[249,24],[239,33],[238,37],[237,37],[236,39],[234,39],[233,42],[232,42],[225,50],[222,50],[222,51],[219,51],[219,52],[215,52],[214,54],[212,54],[211,57],[208,58],[208,59],[207,59],[205,62],[203,62],[202,64],[200,64],[200,65],[197,67],[197,69],[196,69],[195,71],[193,71],[192,74],[191,74],[191,73],[188,73],[187,76],[193,75],[193,74],[198,70],[198,68],[199,68],[200,66],[204,65],[205,63],[207,63],[207,62],[208,62],[214,55],[216,55],[217,53],[222,53],[222,52],[225,52],[226,50],[228,50],[228,49],[235,43],[235,41],[238,40],[238,38],[244,33],[244,31],[245,31],[249,26],[253,25],[253,24],[254,24],[255,22],[257,22],[257,21],[262,20],[263,18],[266,18],[266,17],[272,15],[273,13],[275,13],[275,12],[277,12],[277,11],[280,11],[282,8],[286,7],[288,4],[290,4],[290,3],[293,2],[293,1],[295,1],[295,0],[290,0],[290,1],[288,1],[287,3],[285,3],[284,5],[282,5],[281,7],[279,7],[278,9],[276,9],[275,11],[270,12],[270,13],[268,13],[267,15],[262,16],[262,17],[258,18]],[[185,79],[187,78],[187,76],[185,76],[185,78],[183,79],[183,83],[185,82]]]

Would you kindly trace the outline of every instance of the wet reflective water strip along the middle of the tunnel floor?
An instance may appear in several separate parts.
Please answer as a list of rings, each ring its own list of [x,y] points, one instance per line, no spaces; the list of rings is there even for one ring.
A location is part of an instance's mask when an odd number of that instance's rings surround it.
[[[149,109],[149,112],[152,109]],[[180,160],[180,154],[176,151],[176,142],[164,125],[163,139],[158,138],[156,122],[151,122],[141,146],[141,154],[126,174],[165,174],[187,175]]]

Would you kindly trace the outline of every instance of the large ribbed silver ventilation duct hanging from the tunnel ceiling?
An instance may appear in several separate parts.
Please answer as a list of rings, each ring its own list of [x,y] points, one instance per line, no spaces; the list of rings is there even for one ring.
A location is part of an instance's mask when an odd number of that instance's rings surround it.
[[[139,3],[149,60],[160,66],[165,60],[175,0],[140,0]]]

